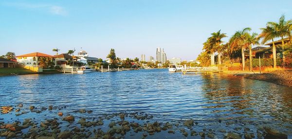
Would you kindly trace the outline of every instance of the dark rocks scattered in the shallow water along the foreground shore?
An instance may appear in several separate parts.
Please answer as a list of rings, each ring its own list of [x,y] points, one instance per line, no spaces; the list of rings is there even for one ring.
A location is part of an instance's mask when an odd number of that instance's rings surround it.
[[[288,135],[262,123],[240,119],[219,120],[202,125],[187,119],[179,122],[159,122],[144,113],[112,113],[97,117],[86,116],[92,110],[78,109],[71,114],[61,112],[66,106],[37,108],[33,105],[1,106],[0,138],[6,139],[157,139],[157,138],[207,138],[207,139],[288,139]],[[33,114],[35,117],[27,116]],[[38,114],[49,113],[37,120]],[[12,115],[15,114],[15,118]],[[37,116],[38,115],[38,116]],[[75,115],[75,116],[74,116]],[[18,118],[22,117],[22,118]],[[212,129],[212,124],[222,124],[226,129]],[[242,125],[235,127],[233,125]],[[256,129],[249,128],[255,126]],[[210,127],[209,127],[210,126]]]

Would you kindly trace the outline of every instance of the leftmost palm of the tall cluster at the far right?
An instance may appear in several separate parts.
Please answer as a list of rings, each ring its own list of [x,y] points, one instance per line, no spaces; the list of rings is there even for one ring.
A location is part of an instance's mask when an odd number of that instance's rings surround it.
[[[275,28],[266,26],[266,28],[260,28],[262,31],[258,37],[262,38],[261,44],[265,44],[266,42],[272,40],[273,43],[273,67],[276,68],[276,46],[274,43],[274,38],[277,37],[277,32]]]

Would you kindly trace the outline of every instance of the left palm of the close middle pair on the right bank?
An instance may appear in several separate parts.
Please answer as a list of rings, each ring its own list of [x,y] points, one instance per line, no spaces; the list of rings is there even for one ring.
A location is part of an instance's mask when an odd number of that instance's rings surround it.
[[[249,47],[248,37],[251,28],[244,28],[241,31],[237,31],[229,40],[231,50],[236,50],[241,48],[241,56],[242,56],[242,70],[244,70],[245,61],[244,61],[244,50]]]

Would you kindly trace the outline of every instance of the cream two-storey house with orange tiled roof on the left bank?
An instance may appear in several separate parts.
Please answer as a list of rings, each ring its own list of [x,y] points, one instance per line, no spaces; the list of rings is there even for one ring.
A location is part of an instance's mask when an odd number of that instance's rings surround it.
[[[16,56],[18,63],[22,65],[26,65],[26,66],[33,66],[33,67],[39,66],[40,58],[42,57],[50,58],[51,61],[54,62],[56,65],[56,60],[55,60],[56,56],[41,53],[41,52],[33,52],[33,53]]]

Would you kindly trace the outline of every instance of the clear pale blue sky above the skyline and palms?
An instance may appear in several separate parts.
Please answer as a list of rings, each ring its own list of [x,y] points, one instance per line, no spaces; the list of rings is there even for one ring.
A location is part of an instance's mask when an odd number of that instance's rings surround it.
[[[221,30],[260,33],[281,15],[292,19],[292,0],[1,0],[0,55],[75,48],[105,59],[156,56],[196,59],[202,43]],[[223,40],[228,41],[229,37]]]

